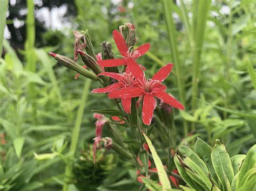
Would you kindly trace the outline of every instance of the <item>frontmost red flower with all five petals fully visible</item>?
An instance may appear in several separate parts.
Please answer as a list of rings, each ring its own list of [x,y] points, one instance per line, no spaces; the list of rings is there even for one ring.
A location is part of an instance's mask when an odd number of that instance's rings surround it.
[[[132,58],[127,59],[127,66],[131,74],[137,79],[137,87],[125,87],[113,90],[109,93],[109,98],[132,98],[143,96],[142,119],[143,123],[149,125],[151,123],[156,99],[159,98],[164,103],[171,105],[173,108],[184,110],[183,104],[178,102],[173,96],[165,92],[166,86],[161,84],[171,73],[173,64],[168,63],[162,67],[152,79],[146,79],[145,74],[140,69],[138,63]]]

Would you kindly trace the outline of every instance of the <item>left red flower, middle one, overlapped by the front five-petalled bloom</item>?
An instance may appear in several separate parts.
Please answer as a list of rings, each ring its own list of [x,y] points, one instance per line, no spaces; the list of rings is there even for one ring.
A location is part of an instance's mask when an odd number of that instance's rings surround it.
[[[117,80],[117,82],[113,83],[110,86],[107,86],[105,88],[93,89],[92,93],[109,93],[109,92],[111,92],[113,90],[117,90],[119,88],[134,87],[137,85],[137,81],[131,73],[119,74],[119,73],[113,73],[113,72],[103,72],[103,73],[100,73],[99,75],[105,75],[105,76],[112,77],[113,79]],[[131,112],[132,98],[123,97],[123,98],[121,98],[121,102],[122,102],[124,111],[127,114],[129,114]]]

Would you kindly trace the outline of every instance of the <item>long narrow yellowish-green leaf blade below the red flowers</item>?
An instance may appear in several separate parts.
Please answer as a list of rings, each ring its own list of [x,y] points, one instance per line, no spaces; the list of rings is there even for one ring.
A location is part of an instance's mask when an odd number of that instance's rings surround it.
[[[145,137],[147,145],[149,145],[150,151],[152,153],[154,164],[156,165],[157,168],[158,178],[161,182],[161,185],[163,186],[163,190],[171,189],[171,184],[167,176],[167,173],[165,172],[164,165],[161,162],[161,159],[159,158],[154,146],[152,145],[151,140],[149,139],[149,137],[146,136],[144,132],[143,136]]]

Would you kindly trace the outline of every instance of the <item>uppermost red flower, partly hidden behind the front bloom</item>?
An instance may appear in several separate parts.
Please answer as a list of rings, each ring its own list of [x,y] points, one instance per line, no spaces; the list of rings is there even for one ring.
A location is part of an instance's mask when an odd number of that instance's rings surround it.
[[[127,47],[124,37],[117,30],[113,31],[113,39],[117,45],[117,48],[120,54],[123,56],[123,59],[109,59],[109,60],[98,60],[98,64],[103,67],[114,67],[126,65],[126,59],[132,58],[136,60],[140,56],[144,55],[150,49],[150,44],[146,43],[138,47],[134,51],[130,52],[131,47]]]

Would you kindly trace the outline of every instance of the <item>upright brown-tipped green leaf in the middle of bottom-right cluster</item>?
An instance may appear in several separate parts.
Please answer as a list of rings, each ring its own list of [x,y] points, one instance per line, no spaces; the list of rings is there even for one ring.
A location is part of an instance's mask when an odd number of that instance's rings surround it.
[[[215,140],[215,144],[211,153],[212,164],[219,181],[223,185],[224,190],[228,190],[231,186],[230,183],[234,178],[234,172],[230,156],[226,152],[225,146],[219,139]]]

